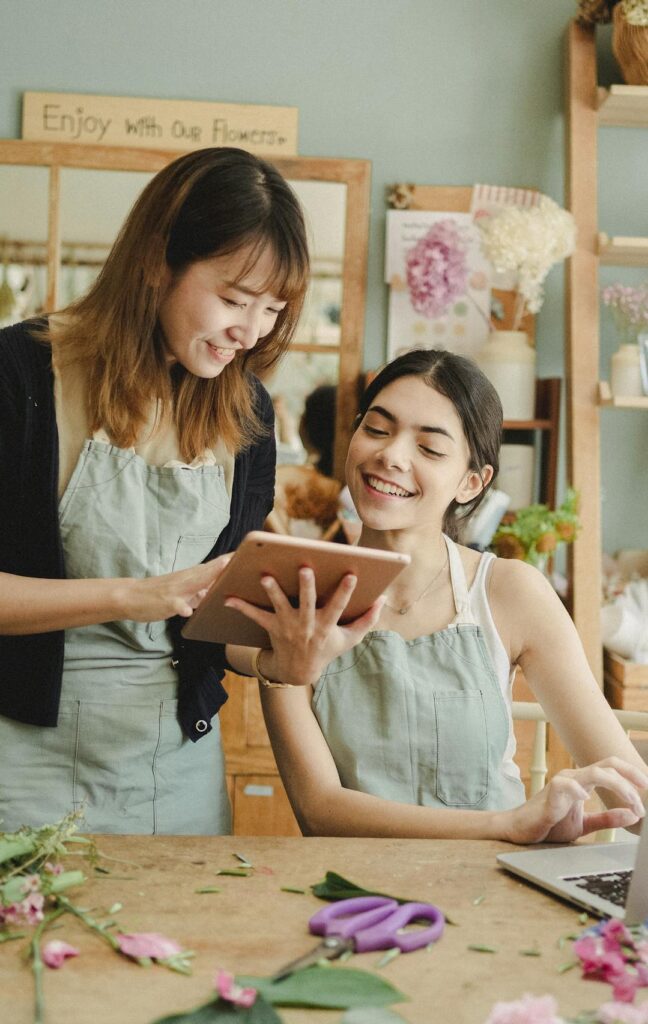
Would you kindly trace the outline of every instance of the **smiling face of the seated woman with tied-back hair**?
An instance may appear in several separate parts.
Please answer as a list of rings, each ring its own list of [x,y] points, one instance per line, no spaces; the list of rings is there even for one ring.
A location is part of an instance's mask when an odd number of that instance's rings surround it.
[[[371,530],[441,528],[448,506],[475,498],[492,475],[470,469],[455,406],[420,377],[400,377],[374,398],[351,438],[346,478]]]

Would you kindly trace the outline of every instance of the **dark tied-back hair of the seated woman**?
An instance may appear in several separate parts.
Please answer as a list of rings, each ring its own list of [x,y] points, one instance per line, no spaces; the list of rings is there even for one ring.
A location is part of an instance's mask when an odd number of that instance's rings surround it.
[[[383,367],[360,398],[358,423],[372,407],[376,396],[401,377],[421,377],[439,394],[452,402],[470,452],[469,468],[481,475],[484,466],[492,466],[492,479],[500,469],[502,444],[502,402],[488,378],[479,367],[463,355],[444,349],[416,349],[405,352]],[[490,481],[492,482],[492,481]],[[468,519],[488,490],[490,483],[462,505],[452,502],[443,516],[443,530],[458,539],[461,522]]]

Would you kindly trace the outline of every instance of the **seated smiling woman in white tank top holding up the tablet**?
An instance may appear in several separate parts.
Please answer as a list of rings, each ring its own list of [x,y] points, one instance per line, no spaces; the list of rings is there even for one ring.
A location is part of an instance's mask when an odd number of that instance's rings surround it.
[[[646,766],[550,584],[457,543],[496,473],[501,432],[500,399],[473,362],[446,351],[395,359],[361,400],[346,477],[359,543],[409,564],[349,626],[337,624],[352,577],[320,608],[308,569],[297,610],[271,579],[274,612],[231,600],[271,638],[253,665],[307,835],[569,842],[644,813]],[[516,666],[585,766],[528,801],[514,761]],[[612,809],[585,811],[595,787]]]

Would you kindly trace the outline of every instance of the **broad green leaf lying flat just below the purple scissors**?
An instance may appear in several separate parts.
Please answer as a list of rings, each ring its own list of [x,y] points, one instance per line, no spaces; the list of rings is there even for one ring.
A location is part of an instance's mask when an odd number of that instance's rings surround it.
[[[277,1007],[348,1010],[349,1007],[384,1007],[407,998],[384,978],[353,968],[315,966],[296,971],[283,981],[244,976],[236,978],[236,984],[252,985],[268,1002]]]

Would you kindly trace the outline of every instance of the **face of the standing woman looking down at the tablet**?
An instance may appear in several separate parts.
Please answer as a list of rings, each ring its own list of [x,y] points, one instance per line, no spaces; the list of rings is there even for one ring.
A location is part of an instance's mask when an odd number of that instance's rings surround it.
[[[170,362],[196,377],[217,377],[265,338],[286,302],[266,291],[273,270],[269,247],[250,263],[250,252],[214,256],[168,270],[160,326]]]

